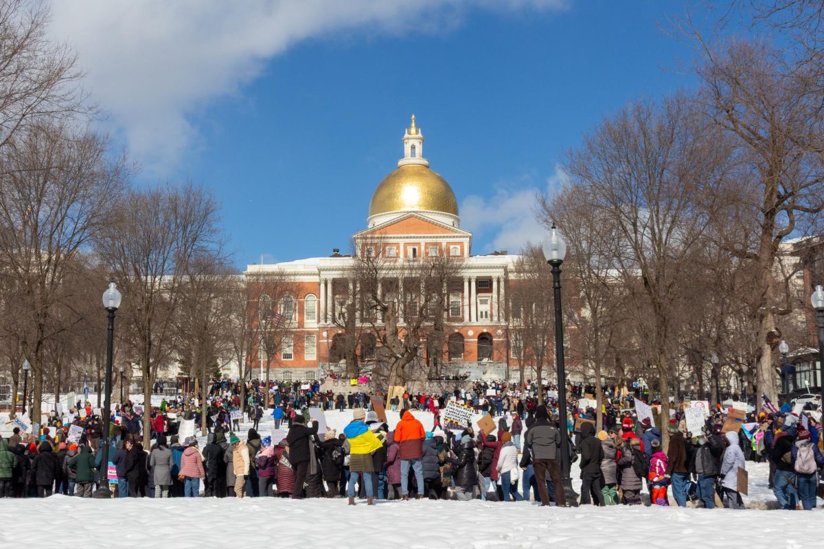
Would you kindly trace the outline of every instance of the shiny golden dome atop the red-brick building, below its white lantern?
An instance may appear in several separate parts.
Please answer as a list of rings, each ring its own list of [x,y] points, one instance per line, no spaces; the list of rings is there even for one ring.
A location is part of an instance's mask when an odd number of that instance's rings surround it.
[[[424,165],[401,165],[387,175],[372,194],[369,216],[418,210],[458,215],[458,201],[440,175]]]

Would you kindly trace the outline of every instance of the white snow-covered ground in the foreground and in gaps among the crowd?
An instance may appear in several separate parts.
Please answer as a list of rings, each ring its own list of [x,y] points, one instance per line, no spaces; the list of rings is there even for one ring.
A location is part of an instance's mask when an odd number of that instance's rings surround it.
[[[391,427],[396,412],[386,412]],[[431,414],[414,412],[432,426]],[[351,412],[326,412],[327,424],[342,430]],[[251,424],[242,424],[241,438]],[[260,435],[274,426],[265,417]],[[201,439],[201,448],[204,440]],[[345,500],[279,498],[81,500],[54,495],[46,500],[0,500],[0,547],[36,544],[54,547],[58,533],[74,532],[82,547],[168,547],[189,549],[230,543],[285,547],[609,547],[609,549],[701,549],[822,547],[822,510],[813,514],[760,510],[774,506],[765,464],[747,462],[750,509],[679,509],[676,507],[540,508],[534,503],[480,500],[382,501],[355,507]],[[573,471],[579,490],[578,471]],[[819,504],[822,500],[819,500]],[[768,505],[769,504],[769,505]],[[760,509],[758,509],[760,508]],[[812,521],[811,521],[812,519]],[[44,525],[48,524],[48,528]]]

